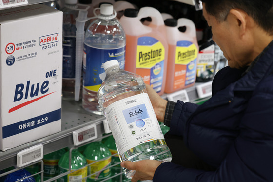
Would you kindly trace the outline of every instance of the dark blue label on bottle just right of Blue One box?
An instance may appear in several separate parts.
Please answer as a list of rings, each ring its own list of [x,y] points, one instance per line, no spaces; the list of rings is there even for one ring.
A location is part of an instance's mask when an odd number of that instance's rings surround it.
[[[76,37],[64,36],[63,38],[62,78],[75,78]]]

